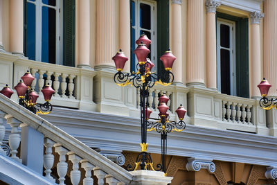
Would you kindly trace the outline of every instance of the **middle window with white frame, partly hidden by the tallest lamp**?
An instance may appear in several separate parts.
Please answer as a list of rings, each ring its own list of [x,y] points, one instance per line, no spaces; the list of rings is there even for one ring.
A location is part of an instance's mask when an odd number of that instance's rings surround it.
[[[136,39],[143,33],[152,40],[149,49],[151,53],[148,58],[155,64],[154,71],[157,71],[157,13],[156,1],[132,0],[131,2],[131,61],[132,71],[136,71],[136,56],[134,49],[136,49]]]

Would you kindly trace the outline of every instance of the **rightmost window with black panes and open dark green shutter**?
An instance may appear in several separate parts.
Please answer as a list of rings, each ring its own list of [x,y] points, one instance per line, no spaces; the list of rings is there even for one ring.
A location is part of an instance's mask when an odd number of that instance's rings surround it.
[[[217,89],[249,98],[248,19],[217,12]]]

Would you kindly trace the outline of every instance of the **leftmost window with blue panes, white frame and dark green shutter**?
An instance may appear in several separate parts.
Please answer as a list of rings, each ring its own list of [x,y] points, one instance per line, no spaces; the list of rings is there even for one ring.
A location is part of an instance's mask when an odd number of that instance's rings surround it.
[[[73,0],[25,1],[24,53],[30,60],[75,65],[74,6]]]

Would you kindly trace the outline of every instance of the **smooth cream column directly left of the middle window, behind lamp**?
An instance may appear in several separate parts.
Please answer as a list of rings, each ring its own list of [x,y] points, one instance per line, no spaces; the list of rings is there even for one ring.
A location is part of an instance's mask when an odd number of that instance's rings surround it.
[[[130,58],[131,48],[130,33],[130,11],[129,0],[119,0],[119,48]],[[123,69],[124,72],[130,72],[130,64],[128,61]]]

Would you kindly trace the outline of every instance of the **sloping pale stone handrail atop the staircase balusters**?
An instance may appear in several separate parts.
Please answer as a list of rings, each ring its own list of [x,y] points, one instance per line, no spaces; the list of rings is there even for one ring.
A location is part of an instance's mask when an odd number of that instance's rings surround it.
[[[38,132],[44,134],[44,137],[48,137],[56,143],[60,143],[64,148],[71,150],[71,152],[82,157],[82,159],[87,159],[91,164],[100,167],[107,174],[120,180],[120,182],[129,184],[129,182],[132,181],[133,175],[127,172],[127,170],[114,164],[114,162],[92,150],[78,139],[75,139],[73,136],[49,123],[44,118],[33,114],[2,94],[0,94],[0,110],[12,115],[22,123],[26,123],[30,127],[33,127]]]

